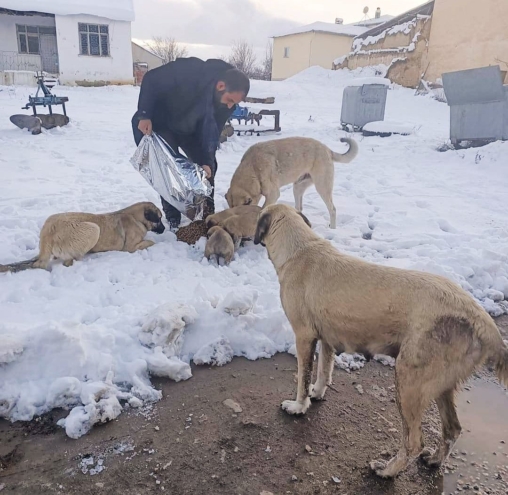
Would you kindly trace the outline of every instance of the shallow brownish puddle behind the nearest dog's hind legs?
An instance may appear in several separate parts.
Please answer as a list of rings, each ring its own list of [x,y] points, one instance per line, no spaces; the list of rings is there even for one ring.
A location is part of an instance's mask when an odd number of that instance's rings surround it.
[[[448,461],[446,495],[508,493],[508,392],[495,381],[468,383],[457,398],[462,434]]]

